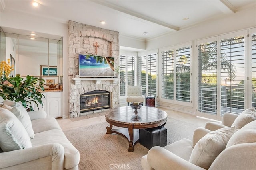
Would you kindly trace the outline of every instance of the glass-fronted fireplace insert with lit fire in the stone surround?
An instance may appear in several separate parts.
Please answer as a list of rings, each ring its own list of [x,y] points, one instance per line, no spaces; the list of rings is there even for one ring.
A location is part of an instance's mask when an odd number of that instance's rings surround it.
[[[80,95],[80,113],[110,108],[110,92],[94,90]]]

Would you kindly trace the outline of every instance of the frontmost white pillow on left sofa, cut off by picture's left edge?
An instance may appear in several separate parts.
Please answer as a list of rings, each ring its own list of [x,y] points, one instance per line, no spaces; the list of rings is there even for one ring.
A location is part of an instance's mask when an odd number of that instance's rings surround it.
[[[32,147],[22,123],[3,108],[0,108],[0,147],[4,152]]]

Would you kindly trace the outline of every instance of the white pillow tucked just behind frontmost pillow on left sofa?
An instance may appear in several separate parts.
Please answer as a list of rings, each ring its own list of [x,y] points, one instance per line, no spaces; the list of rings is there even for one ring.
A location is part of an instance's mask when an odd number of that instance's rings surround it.
[[[8,110],[10,110],[22,123],[22,125],[25,127],[28,136],[30,137],[30,139],[33,139],[35,136],[34,130],[32,128],[32,123],[31,123],[31,119],[28,115],[28,112],[26,111],[25,107],[22,106],[22,104],[17,103],[17,102],[13,102],[10,100],[4,100],[4,106],[8,105],[11,106],[12,109],[6,108]]]

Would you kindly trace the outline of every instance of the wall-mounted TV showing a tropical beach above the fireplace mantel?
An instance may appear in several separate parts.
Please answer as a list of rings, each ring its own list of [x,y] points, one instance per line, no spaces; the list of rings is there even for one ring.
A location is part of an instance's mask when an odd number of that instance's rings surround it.
[[[114,77],[114,57],[79,54],[80,77]]]

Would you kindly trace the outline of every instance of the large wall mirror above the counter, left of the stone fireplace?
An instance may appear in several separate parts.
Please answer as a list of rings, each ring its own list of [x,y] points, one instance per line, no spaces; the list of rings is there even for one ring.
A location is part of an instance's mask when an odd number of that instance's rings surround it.
[[[0,61],[11,60],[11,76],[38,76],[59,84],[62,77],[62,37],[1,27]],[[50,78],[49,78],[50,77]],[[49,81],[48,81],[49,82]]]

